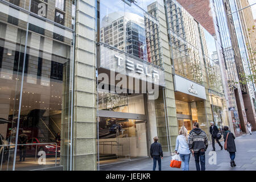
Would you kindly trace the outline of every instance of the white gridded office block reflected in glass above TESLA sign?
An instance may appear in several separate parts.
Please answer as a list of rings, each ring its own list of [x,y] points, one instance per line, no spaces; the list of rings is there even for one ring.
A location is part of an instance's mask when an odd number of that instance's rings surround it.
[[[118,19],[115,17],[117,13],[102,19],[101,42],[147,60],[143,18],[131,13],[125,13],[125,16]]]

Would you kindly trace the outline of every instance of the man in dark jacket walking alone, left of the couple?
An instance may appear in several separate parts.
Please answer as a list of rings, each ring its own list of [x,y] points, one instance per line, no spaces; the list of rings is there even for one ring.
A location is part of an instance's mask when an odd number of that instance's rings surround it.
[[[161,171],[161,158],[163,159],[163,150],[160,143],[158,143],[158,137],[154,137],[154,143],[150,146],[150,156],[154,160],[153,171],[156,168],[156,160],[158,161],[158,168]]]

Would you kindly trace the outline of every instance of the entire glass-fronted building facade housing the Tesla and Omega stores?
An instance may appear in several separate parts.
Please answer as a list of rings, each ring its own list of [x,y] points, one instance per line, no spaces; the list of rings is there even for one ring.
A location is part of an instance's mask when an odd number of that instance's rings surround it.
[[[100,170],[229,126],[216,38],[177,1],[0,7],[1,170]]]

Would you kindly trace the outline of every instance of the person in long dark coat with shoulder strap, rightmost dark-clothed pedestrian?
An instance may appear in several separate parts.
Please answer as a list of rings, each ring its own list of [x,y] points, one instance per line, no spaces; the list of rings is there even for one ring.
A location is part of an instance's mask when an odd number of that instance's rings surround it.
[[[223,134],[223,138],[225,141],[225,150],[229,152],[229,156],[230,156],[230,166],[231,167],[235,167],[236,163],[234,162],[234,159],[236,157],[236,143],[234,142],[234,134],[229,131],[229,127],[225,126],[224,127],[224,134]]]

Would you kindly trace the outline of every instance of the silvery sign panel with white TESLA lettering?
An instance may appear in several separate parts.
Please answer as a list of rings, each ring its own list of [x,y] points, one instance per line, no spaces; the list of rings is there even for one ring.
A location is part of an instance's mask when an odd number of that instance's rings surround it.
[[[98,44],[98,68],[165,86],[164,69],[104,43]],[[145,55],[146,56],[146,55]]]

